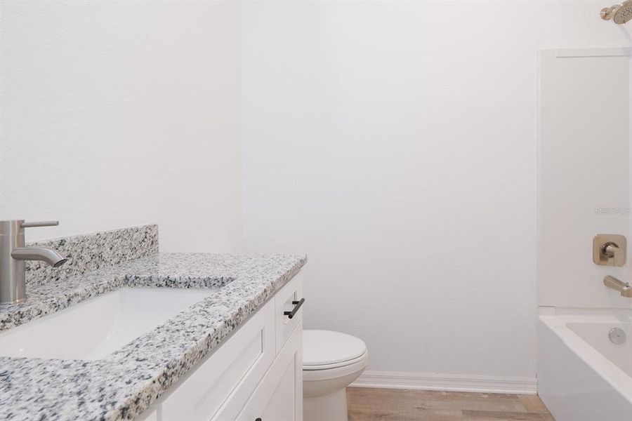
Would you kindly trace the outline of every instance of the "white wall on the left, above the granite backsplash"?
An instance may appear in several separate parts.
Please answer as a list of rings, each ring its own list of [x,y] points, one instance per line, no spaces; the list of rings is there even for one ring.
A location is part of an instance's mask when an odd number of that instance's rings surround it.
[[[158,223],[164,251],[241,238],[239,8],[0,2],[0,219],[44,239]]]

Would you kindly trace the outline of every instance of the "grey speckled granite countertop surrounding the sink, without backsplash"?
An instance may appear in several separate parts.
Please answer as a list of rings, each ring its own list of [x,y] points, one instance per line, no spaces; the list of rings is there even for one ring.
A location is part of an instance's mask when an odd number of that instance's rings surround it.
[[[161,253],[27,285],[0,330],[123,286],[211,288],[209,297],[96,361],[0,357],[2,420],[127,420],[143,413],[284,286],[304,255]]]

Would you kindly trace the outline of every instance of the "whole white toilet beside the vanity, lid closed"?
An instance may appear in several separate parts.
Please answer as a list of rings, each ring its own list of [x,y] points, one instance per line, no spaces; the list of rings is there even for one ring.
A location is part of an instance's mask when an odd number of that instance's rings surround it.
[[[347,421],[345,387],[367,366],[367,345],[331,330],[303,330],[303,420]]]

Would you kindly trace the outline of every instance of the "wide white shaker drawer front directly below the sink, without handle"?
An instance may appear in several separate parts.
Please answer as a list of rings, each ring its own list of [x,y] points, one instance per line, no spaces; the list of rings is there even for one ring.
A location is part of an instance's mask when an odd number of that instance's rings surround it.
[[[244,405],[275,359],[274,312],[270,300],[216,352],[192,367],[164,396],[160,419],[231,419],[222,414]]]

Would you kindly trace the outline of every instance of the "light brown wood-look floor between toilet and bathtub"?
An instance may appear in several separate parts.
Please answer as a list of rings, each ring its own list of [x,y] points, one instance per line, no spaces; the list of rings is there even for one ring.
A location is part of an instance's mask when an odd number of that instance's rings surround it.
[[[536,395],[347,388],[349,421],[555,421]]]

